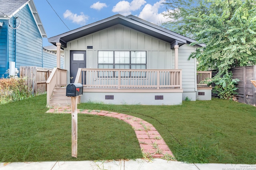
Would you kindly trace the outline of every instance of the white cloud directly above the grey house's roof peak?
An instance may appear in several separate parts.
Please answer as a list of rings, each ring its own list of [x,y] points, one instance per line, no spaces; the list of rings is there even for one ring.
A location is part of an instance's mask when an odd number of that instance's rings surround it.
[[[142,5],[146,3],[145,0],[133,0],[131,3],[125,0],[119,1],[116,6],[113,7],[112,12],[118,12],[123,16],[132,14],[131,11],[140,9]]]

